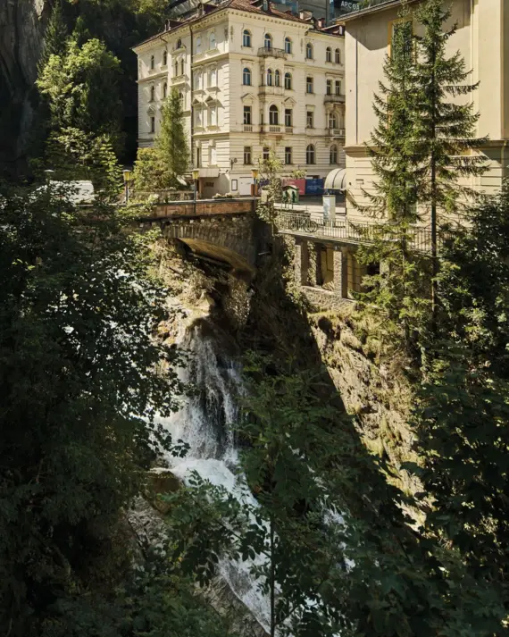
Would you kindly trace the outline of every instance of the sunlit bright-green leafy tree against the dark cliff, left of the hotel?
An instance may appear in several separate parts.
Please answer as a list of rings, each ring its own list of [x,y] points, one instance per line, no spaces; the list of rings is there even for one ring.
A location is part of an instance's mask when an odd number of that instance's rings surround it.
[[[104,44],[70,39],[65,54],[50,55],[37,85],[49,104],[55,130],[75,128],[120,139],[120,62]]]

